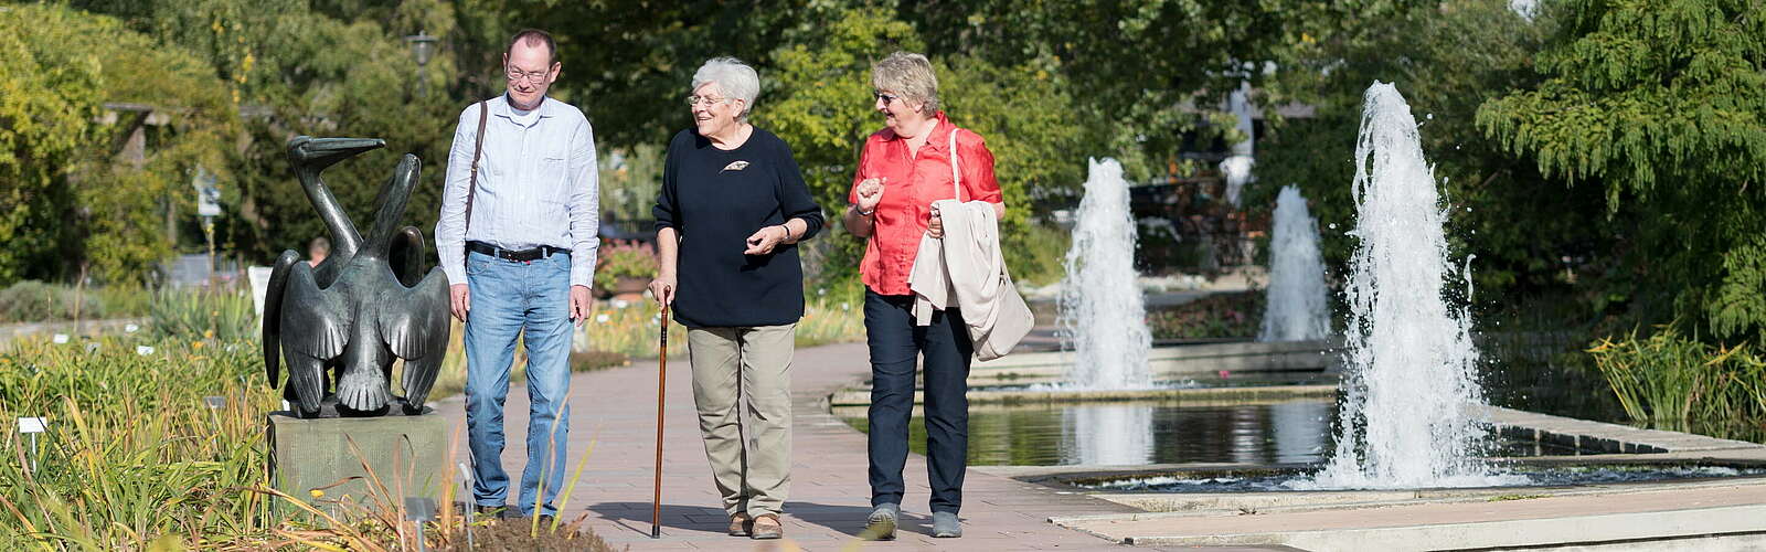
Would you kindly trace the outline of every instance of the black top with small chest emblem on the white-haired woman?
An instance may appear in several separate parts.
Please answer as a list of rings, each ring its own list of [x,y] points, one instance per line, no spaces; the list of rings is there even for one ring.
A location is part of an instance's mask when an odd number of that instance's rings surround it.
[[[793,218],[821,230],[791,147],[754,129],[742,147],[721,150],[694,129],[675,134],[653,209],[657,230],[680,234],[675,320],[687,327],[795,324],[804,317],[804,267],[796,244],[743,255],[747,237]]]

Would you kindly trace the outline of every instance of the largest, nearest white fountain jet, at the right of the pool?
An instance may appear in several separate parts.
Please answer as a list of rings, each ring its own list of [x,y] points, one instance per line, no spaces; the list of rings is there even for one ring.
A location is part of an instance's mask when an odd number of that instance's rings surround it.
[[[1443,301],[1453,274],[1446,207],[1404,96],[1376,81],[1355,149],[1356,228],[1337,448],[1314,485],[1409,488],[1506,485],[1475,458],[1485,430],[1469,315]],[[1466,280],[1469,281],[1469,280]],[[1468,299],[1471,288],[1466,288]]]

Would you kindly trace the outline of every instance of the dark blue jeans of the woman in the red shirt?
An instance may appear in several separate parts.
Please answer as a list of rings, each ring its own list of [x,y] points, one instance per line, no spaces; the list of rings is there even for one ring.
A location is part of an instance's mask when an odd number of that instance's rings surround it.
[[[865,290],[865,340],[871,345],[871,506],[901,504],[908,464],[908,419],[913,416],[913,368],[925,370],[925,471],[932,511],[962,508],[962,474],[970,451],[970,359],[975,347],[955,308],[913,326],[913,295]]]

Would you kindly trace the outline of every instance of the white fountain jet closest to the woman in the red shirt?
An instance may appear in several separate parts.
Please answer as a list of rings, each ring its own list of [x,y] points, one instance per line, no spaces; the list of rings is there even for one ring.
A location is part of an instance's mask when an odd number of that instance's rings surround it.
[[[1153,336],[1134,272],[1128,180],[1116,159],[1091,159],[1072,239],[1060,297],[1061,331],[1074,345],[1068,384],[1075,389],[1151,387],[1146,354]]]

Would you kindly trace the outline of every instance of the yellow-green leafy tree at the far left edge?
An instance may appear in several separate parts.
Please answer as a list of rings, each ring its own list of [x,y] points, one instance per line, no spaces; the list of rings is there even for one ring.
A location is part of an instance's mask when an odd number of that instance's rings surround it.
[[[120,21],[57,5],[0,11],[7,39],[0,83],[0,182],[12,202],[0,234],[0,281],[60,280],[90,272],[106,281],[140,281],[170,253],[159,225],[171,191],[192,202],[189,170],[224,170],[221,145],[238,134],[219,81],[191,51],[157,48]],[[166,124],[141,127],[147,113],[106,103],[162,106]],[[127,138],[152,147],[120,159]]]

